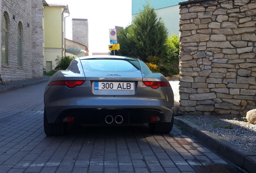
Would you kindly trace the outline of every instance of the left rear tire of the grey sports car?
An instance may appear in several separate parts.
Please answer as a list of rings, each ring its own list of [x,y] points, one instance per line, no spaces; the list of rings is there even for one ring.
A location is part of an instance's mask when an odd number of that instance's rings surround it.
[[[66,124],[48,123],[45,109],[43,113],[43,127],[44,127],[44,133],[47,136],[62,136],[62,135],[66,135],[67,133]]]

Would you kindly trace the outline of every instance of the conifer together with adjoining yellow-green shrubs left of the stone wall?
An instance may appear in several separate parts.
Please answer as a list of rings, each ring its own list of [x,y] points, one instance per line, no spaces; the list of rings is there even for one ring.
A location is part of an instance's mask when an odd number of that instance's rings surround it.
[[[179,74],[180,38],[174,33],[168,36],[167,28],[149,2],[130,26],[119,30],[117,39],[120,50],[115,51],[116,55],[139,58],[152,71],[165,76]]]

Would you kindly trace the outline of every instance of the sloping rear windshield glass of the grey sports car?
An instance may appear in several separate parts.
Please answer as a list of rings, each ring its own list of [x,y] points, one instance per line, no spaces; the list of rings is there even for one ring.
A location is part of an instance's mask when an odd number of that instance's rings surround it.
[[[140,64],[135,60],[87,59],[81,60],[83,68],[91,71],[138,71]]]

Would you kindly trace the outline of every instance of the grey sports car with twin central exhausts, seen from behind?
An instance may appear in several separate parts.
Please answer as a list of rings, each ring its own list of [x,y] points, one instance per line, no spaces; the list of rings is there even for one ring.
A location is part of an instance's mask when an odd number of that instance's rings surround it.
[[[45,87],[44,131],[65,135],[68,123],[148,123],[153,133],[169,133],[173,102],[169,81],[137,58],[78,57]]]

